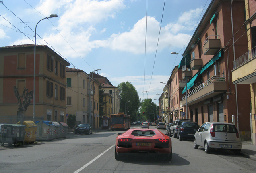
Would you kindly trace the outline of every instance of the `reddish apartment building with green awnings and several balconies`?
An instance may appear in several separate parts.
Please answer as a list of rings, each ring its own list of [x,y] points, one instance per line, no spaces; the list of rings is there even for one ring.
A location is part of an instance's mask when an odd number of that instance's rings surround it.
[[[212,0],[198,24],[179,68],[187,66],[189,118],[234,123],[242,140],[250,139],[250,85],[232,82],[235,57],[247,52],[244,0]],[[190,75],[191,74],[191,75]],[[190,77],[191,76],[191,77]],[[186,92],[186,88],[182,93]]]

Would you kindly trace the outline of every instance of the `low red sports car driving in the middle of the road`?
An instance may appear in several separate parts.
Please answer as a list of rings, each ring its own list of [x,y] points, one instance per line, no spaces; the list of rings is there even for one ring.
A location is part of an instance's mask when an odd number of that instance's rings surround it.
[[[159,156],[171,161],[171,138],[157,129],[129,129],[116,137],[115,159],[125,155],[135,157]]]

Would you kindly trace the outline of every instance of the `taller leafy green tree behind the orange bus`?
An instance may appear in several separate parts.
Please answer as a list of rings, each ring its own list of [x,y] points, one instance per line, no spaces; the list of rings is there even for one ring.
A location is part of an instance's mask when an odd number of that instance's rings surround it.
[[[131,116],[136,116],[136,112],[140,107],[140,97],[131,82],[122,82],[118,85],[120,90],[120,112],[124,112]]]

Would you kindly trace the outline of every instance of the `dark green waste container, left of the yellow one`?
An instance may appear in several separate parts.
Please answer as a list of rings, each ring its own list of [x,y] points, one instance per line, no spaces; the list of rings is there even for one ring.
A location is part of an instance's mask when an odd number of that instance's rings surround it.
[[[25,125],[1,125],[1,145],[4,146],[4,143],[14,144],[15,146],[20,143],[23,145],[25,128]]]

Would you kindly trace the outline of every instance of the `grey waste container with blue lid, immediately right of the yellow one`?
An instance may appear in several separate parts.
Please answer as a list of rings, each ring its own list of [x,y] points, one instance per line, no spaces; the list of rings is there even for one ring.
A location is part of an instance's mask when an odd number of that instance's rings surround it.
[[[36,140],[51,141],[54,139],[54,125],[48,120],[36,121],[37,135]]]

